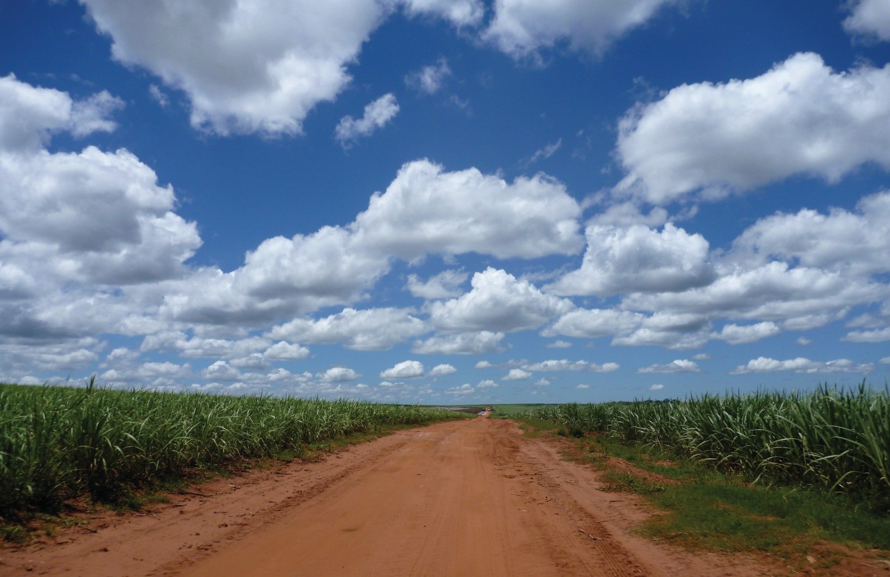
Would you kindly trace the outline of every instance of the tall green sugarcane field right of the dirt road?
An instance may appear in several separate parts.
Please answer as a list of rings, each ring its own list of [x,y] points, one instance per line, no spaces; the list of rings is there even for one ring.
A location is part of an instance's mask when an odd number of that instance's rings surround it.
[[[890,509],[890,395],[864,382],[809,393],[549,405],[530,414],[751,481],[819,487]]]

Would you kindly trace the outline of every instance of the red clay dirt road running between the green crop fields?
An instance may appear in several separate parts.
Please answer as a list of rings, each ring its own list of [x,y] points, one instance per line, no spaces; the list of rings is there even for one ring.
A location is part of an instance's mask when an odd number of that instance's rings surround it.
[[[198,485],[141,515],[93,518],[54,540],[0,549],[0,575],[786,573],[764,557],[691,553],[635,536],[629,530],[651,511],[602,486],[512,421],[452,421],[324,462]]]

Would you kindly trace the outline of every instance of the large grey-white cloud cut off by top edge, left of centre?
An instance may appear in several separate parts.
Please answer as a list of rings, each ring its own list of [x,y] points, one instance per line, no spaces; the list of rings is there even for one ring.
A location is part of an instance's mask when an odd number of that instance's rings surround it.
[[[115,60],[185,92],[191,124],[221,135],[302,132],[387,13],[374,0],[84,4]]]

